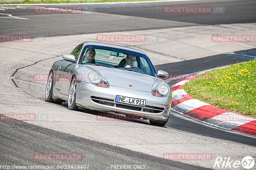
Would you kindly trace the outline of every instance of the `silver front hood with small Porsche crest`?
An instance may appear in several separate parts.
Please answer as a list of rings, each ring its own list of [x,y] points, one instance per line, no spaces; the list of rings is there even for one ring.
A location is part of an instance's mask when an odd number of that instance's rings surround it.
[[[118,68],[108,68],[102,66],[87,67],[100,73],[104,78],[106,78],[110,86],[151,92],[154,82],[158,80],[157,77],[151,75]]]

